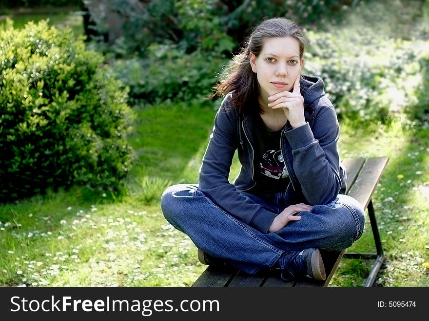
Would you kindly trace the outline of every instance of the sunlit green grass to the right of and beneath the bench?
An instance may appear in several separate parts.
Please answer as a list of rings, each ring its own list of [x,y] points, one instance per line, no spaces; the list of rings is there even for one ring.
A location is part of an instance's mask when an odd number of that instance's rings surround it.
[[[429,286],[429,128],[393,120],[389,126],[356,128],[343,123],[343,158],[389,156],[389,163],[373,196],[386,267],[376,279],[380,286]],[[366,231],[350,249],[375,252],[369,219]],[[370,264],[344,259],[331,285],[363,285]],[[424,264],[426,262],[426,264]]]

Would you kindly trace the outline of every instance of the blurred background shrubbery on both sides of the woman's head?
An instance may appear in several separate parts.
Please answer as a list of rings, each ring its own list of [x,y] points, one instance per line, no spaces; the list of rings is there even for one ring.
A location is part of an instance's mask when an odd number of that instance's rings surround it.
[[[108,39],[98,49],[105,50],[132,99],[154,103],[209,96],[222,66],[254,25],[284,16],[307,29],[305,72],[324,79],[340,117],[386,122],[406,112],[412,120],[428,120],[428,1],[83,2],[93,27]],[[358,12],[363,18],[354,15]]]

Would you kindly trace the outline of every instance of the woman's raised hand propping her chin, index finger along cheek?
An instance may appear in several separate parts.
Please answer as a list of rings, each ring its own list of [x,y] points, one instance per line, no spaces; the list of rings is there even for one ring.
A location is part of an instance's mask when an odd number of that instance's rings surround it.
[[[298,76],[293,83],[292,92],[285,90],[268,97],[268,101],[271,101],[268,107],[273,109],[283,108],[283,112],[289,123],[291,123],[292,128],[305,125],[304,98],[301,96],[299,88],[300,76],[301,70],[298,72]]]

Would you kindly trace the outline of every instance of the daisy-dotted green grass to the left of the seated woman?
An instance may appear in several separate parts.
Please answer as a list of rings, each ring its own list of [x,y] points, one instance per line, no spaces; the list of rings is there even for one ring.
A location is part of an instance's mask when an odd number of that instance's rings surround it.
[[[0,284],[191,285],[204,266],[164,219],[159,197],[171,183],[197,182],[215,114],[207,105],[137,111],[128,195],[76,187],[0,206]]]

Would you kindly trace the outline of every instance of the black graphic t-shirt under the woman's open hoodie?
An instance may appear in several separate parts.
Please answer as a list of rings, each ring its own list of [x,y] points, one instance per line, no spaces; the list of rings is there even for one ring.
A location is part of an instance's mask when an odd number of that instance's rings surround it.
[[[254,128],[255,179],[261,183],[258,193],[272,195],[285,191],[290,179],[280,149],[283,129],[270,130],[262,120],[256,117]]]

